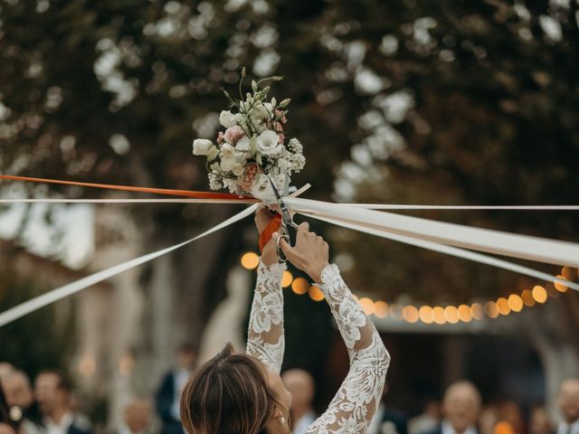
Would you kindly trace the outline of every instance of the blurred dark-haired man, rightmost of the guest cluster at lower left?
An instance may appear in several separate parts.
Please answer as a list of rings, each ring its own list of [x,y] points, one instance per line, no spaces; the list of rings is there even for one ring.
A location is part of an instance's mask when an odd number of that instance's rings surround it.
[[[34,395],[46,434],[92,434],[86,417],[71,408],[71,383],[59,371],[43,371],[34,382]]]

